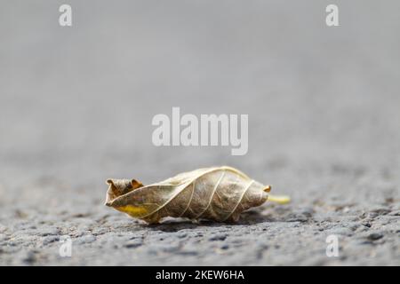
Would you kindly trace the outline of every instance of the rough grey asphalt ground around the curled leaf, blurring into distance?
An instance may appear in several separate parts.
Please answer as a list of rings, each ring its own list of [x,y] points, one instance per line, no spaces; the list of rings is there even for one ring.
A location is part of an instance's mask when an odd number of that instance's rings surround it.
[[[92,2],[72,28],[63,2],[1,3],[0,264],[400,264],[397,1],[336,1],[339,28],[324,1]],[[249,114],[248,154],[153,146],[172,106]],[[235,225],[103,206],[108,177],[223,164],[292,203]]]

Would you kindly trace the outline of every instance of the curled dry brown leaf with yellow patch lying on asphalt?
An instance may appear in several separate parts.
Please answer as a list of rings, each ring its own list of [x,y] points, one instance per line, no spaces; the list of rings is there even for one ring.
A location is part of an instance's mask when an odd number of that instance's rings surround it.
[[[107,184],[106,205],[150,224],[164,217],[237,221],[244,210],[267,201],[271,188],[230,167],[193,170],[146,186],[135,179],[108,179]]]

